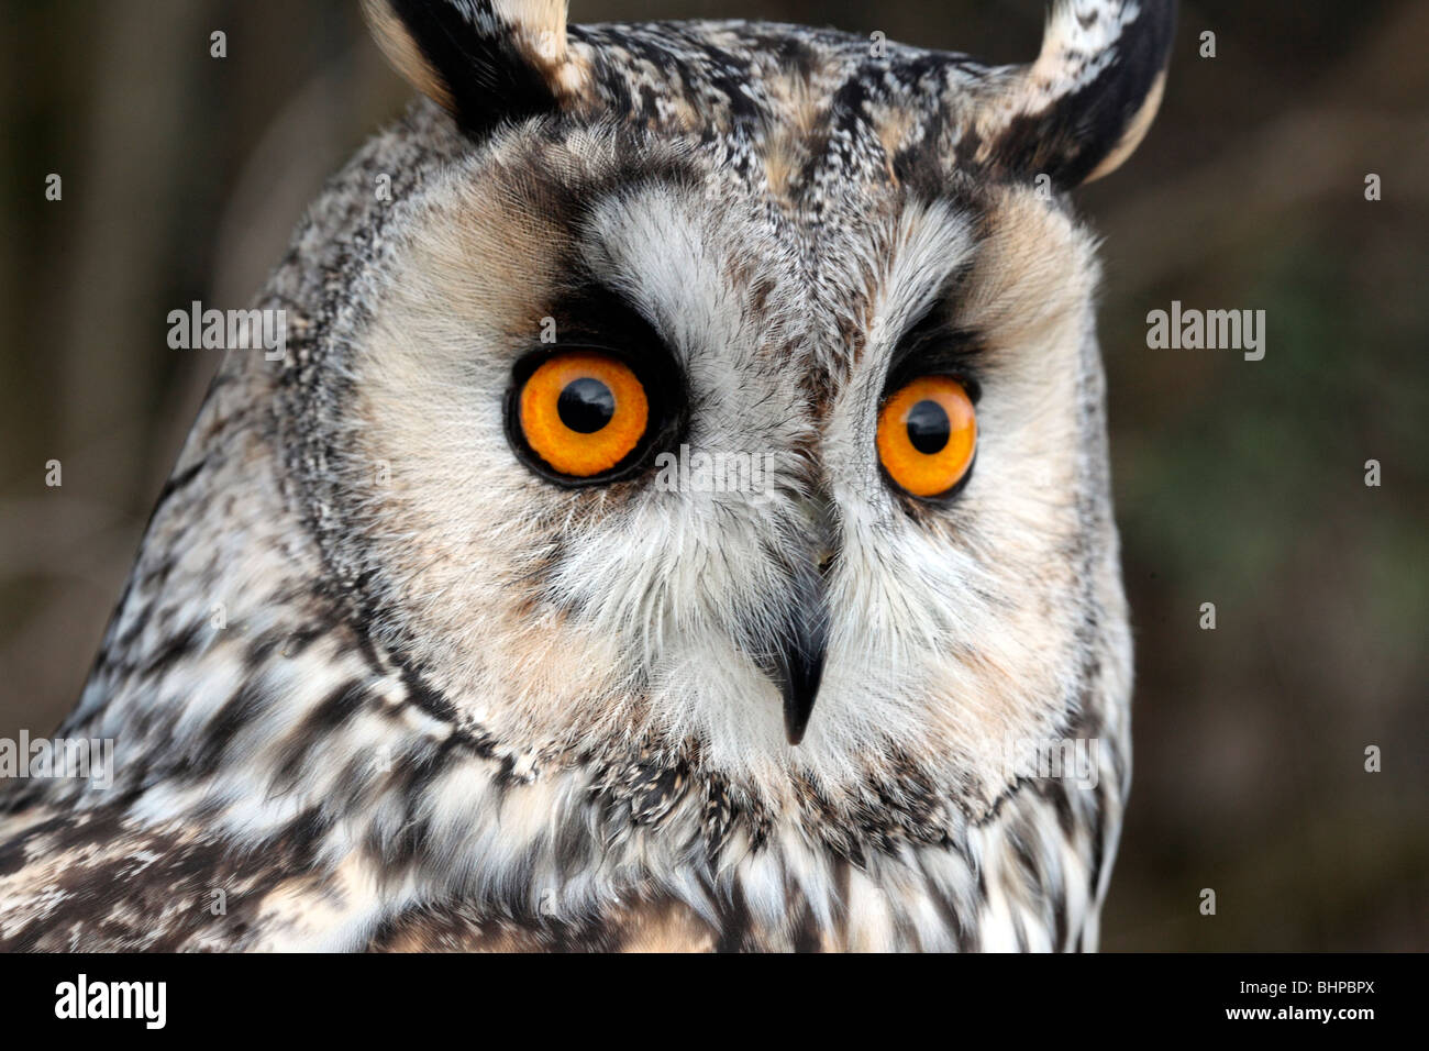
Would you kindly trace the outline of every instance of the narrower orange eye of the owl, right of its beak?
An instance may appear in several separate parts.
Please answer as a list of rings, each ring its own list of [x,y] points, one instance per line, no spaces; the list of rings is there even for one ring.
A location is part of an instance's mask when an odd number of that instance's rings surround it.
[[[879,459],[912,496],[943,496],[967,475],[977,446],[977,413],[963,385],[922,376],[879,412]]]

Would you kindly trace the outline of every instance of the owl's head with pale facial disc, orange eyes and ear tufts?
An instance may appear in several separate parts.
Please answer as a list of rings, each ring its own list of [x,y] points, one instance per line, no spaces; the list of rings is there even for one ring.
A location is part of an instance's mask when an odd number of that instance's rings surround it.
[[[286,396],[376,646],[542,761],[772,799],[915,771],[986,808],[1002,742],[1119,732],[1066,193],[1146,133],[1173,3],[1059,0],[997,67],[562,0],[366,11],[429,102]]]

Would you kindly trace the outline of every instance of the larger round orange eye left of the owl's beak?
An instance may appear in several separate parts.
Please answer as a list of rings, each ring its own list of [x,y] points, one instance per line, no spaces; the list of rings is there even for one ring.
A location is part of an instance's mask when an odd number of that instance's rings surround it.
[[[553,470],[592,478],[617,466],[644,438],[650,405],[623,362],[577,350],[542,363],[522,386],[522,435]]]

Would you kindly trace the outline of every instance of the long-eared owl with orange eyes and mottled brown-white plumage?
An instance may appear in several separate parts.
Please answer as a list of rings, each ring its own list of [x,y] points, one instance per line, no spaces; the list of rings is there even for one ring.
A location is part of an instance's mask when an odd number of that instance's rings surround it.
[[[1130,776],[1073,187],[1172,0],[1037,59],[367,0],[329,182],[0,796],[6,949],[1090,949]]]

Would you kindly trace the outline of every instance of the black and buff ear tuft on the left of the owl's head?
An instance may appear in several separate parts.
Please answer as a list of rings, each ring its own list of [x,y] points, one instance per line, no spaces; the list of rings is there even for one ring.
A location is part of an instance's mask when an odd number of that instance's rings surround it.
[[[362,0],[407,83],[472,134],[550,113],[579,93],[566,0]]]

